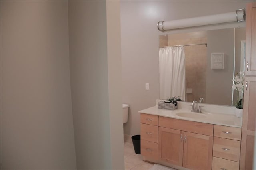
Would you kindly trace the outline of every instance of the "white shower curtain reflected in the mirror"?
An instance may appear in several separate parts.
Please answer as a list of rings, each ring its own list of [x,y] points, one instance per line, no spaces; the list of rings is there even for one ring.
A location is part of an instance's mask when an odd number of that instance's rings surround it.
[[[184,47],[159,49],[160,99],[178,97],[186,101]]]

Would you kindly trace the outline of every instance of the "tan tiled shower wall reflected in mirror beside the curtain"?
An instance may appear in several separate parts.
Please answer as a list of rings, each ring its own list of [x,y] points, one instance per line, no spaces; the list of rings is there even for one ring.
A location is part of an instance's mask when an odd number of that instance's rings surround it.
[[[167,36],[159,36],[161,46],[167,46]],[[185,45],[207,43],[206,32],[174,34],[168,36],[168,45]],[[205,45],[184,46],[186,57],[186,88],[187,101],[194,101],[201,97],[206,100],[206,62],[207,47]],[[192,90],[192,91],[191,91]]]

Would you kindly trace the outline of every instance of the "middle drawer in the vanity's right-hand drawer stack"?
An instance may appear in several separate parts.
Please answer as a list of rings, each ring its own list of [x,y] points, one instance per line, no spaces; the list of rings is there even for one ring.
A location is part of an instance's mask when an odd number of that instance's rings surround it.
[[[213,156],[239,162],[241,142],[214,137]]]

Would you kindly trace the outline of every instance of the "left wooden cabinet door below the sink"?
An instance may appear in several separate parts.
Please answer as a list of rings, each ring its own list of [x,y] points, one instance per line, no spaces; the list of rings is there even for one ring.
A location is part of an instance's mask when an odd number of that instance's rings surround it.
[[[182,166],[184,132],[158,128],[158,159]]]

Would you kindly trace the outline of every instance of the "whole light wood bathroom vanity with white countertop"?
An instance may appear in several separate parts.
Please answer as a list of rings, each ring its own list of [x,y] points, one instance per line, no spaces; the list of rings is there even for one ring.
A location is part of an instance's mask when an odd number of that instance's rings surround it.
[[[190,104],[181,102],[174,111],[157,106],[139,111],[144,160],[178,169],[239,170],[241,118],[190,112]]]

